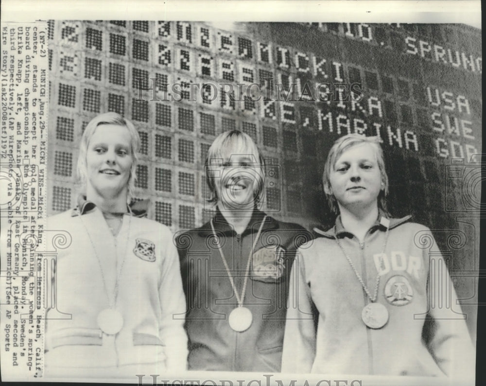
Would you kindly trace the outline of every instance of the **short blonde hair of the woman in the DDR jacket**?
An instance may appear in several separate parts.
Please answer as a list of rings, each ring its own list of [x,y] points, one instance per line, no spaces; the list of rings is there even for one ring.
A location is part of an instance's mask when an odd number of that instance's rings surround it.
[[[383,150],[380,145],[380,138],[379,137],[365,137],[364,135],[360,134],[348,134],[344,137],[338,138],[334,144],[332,145],[326,163],[324,165],[324,173],[322,175],[322,184],[324,186],[324,193],[326,194],[326,198],[328,200],[328,204],[330,210],[336,214],[339,213],[339,207],[337,205],[336,197],[333,194],[328,194],[326,189],[331,192],[331,184],[330,184],[330,173],[332,168],[334,167],[337,159],[341,157],[341,155],[349,148],[361,145],[363,143],[368,143],[371,145],[375,152],[376,161],[378,163],[378,167],[380,169],[380,174],[382,175],[382,182],[383,187],[378,195],[378,208],[388,214],[388,210],[386,208],[386,196],[388,195],[388,175],[386,174],[385,170],[385,160],[383,158]]]

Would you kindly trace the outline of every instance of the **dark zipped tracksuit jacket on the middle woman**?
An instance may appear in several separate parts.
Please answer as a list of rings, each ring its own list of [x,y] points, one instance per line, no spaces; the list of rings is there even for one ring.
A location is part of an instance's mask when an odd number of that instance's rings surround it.
[[[221,212],[213,217],[239,296],[248,255],[264,215],[255,209],[241,235]],[[214,243],[210,223],[178,235],[176,244],[188,306],[189,369],[280,370],[290,270],[297,247],[311,237],[299,225],[266,217],[250,256],[244,298],[253,322],[248,330],[235,332],[228,324],[228,316],[238,301]]]

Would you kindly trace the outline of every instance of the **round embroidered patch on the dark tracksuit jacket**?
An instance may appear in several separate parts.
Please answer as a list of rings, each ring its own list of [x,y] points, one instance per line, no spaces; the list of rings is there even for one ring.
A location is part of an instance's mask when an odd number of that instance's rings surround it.
[[[253,253],[252,277],[277,280],[282,277],[285,269],[285,249],[281,246],[264,246]]]

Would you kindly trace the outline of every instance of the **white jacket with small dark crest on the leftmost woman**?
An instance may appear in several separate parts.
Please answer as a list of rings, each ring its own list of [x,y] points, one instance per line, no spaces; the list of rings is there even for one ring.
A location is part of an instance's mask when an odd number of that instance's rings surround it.
[[[185,369],[186,302],[171,231],[127,213],[113,236],[98,208],[81,214],[84,209],[48,219],[49,229],[72,236],[71,245],[57,256],[57,309],[72,314],[72,319],[49,319],[48,311],[47,368],[151,364],[154,374]],[[123,316],[123,327],[107,335],[99,329],[97,317],[109,308],[105,285],[112,299],[120,267],[115,308]]]

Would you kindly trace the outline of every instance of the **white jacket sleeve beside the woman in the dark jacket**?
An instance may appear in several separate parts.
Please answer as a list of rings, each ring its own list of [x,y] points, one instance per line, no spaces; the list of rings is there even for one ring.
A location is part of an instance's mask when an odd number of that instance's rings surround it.
[[[162,309],[160,337],[166,346],[166,366],[170,370],[187,368],[187,334],[184,330],[186,298],[182,290],[179,257],[172,235],[165,240],[166,258],[163,259],[159,282]]]

